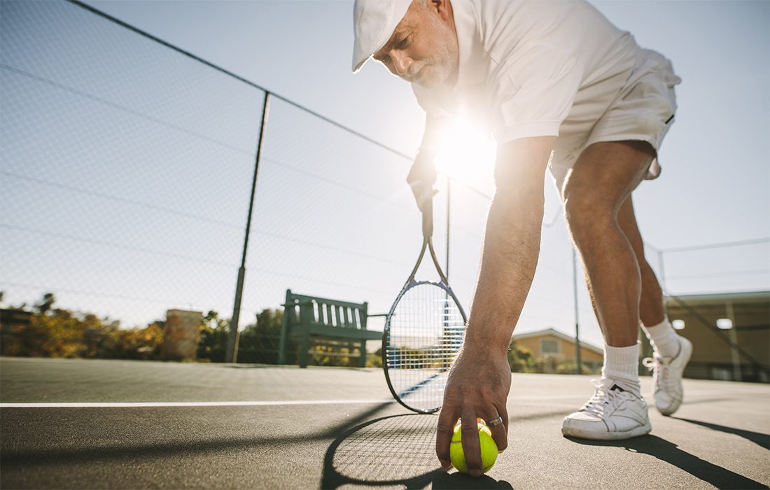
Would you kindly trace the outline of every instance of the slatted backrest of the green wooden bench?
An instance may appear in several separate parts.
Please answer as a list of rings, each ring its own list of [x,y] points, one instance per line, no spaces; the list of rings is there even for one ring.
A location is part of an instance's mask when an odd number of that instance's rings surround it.
[[[286,303],[283,305],[286,324],[324,325],[326,327],[367,329],[368,303],[350,303],[325,297],[293,294],[286,290]]]

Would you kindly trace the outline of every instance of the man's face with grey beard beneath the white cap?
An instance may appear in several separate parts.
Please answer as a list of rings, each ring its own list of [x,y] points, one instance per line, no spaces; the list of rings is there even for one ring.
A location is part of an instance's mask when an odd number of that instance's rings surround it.
[[[447,0],[413,2],[373,58],[395,76],[432,88],[457,80],[457,32]]]

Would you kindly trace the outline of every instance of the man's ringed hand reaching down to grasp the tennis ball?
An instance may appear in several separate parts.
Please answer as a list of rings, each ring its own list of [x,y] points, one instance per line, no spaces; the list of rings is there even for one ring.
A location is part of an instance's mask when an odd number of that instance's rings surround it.
[[[438,419],[436,455],[444,468],[450,465],[449,446],[457,418],[462,418],[463,452],[471,476],[480,476],[481,450],[476,418],[491,421],[499,415],[502,425],[490,427],[497,451],[508,446],[506,400],[511,390],[511,366],[507,351],[474,352],[464,348],[452,366],[444,404]]]

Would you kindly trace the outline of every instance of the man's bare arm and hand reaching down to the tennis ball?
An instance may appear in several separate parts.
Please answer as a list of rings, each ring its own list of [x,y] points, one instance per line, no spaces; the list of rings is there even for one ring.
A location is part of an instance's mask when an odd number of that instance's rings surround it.
[[[500,146],[497,190],[487,218],[484,250],[463,348],[444,393],[436,454],[448,465],[452,430],[462,418],[463,451],[471,475],[481,475],[476,418],[499,414],[492,435],[507,447],[506,400],[511,390],[507,348],[537,266],[543,220],[543,181],[554,137],[520,139]]]

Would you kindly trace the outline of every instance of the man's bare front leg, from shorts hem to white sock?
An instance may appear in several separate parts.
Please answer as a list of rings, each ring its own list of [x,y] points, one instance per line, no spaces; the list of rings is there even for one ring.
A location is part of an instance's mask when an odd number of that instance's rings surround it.
[[[618,213],[653,158],[648,143],[596,143],[577,159],[562,190],[597,320],[612,347],[638,340],[642,275]]]

